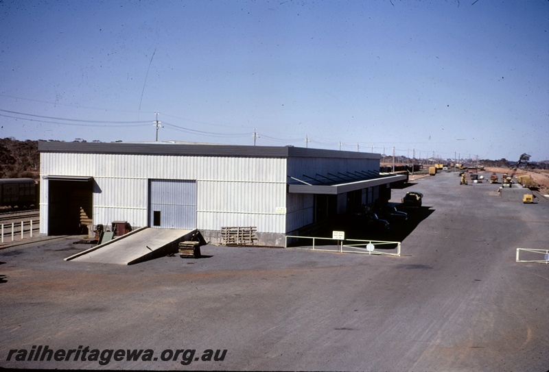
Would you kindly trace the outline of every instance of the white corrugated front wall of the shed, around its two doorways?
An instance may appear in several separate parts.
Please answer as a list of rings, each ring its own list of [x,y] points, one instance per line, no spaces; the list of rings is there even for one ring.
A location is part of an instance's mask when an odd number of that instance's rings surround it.
[[[169,146],[169,145],[168,145]],[[148,179],[196,180],[196,227],[257,226],[285,232],[286,159],[41,153],[40,175],[93,177],[93,223],[148,224]],[[47,211],[47,182],[40,211]],[[44,207],[44,208],[43,208]],[[47,234],[47,216],[40,216]]]

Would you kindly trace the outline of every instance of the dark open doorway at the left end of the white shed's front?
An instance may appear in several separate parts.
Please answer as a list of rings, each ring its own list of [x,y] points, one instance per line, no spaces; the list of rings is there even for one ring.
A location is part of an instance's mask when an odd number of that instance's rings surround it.
[[[93,178],[48,177],[48,235],[88,234],[93,223]]]

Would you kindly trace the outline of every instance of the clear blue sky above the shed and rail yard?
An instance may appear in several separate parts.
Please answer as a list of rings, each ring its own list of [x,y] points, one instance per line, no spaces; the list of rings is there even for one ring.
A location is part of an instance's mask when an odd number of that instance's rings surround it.
[[[549,2],[0,0],[0,138],[549,159]],[[309,139],[309,142],[305,141]]]

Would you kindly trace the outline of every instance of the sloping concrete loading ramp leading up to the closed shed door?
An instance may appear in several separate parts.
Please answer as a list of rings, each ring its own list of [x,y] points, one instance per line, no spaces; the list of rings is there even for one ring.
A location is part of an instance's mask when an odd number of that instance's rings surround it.
[[[98,262],[102,264],[137,264],[168,253],[176,253],[178,245],[191,240],[198,230],[152,229],[142,227],[102,245],[86,249],[65,261]],[[198,233],[200,239],[200,233]]]

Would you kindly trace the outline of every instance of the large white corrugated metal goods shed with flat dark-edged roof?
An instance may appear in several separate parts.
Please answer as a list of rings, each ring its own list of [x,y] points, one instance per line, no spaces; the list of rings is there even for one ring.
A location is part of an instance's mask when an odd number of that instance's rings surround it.
[[[384,197],[397,175],[379,154],[182,142],[39,142],[40,233],[133,228],[253,227],[257,245],[283,245],[355,205]],[[400,177],[400,178],[399,178]],[[380,187],[382,186],[382,187]]]

